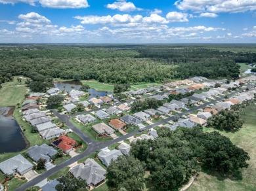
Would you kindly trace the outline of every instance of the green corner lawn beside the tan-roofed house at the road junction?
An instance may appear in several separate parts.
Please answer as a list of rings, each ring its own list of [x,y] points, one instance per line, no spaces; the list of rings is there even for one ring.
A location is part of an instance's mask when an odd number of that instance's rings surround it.
[[[109,119],[106,119],[106,120],[109,120]],[[93,139],[94,141],[97,141],[100,143],[106,143],[112,140],[112,137],[98,137],[98,133],[96,133],[96,131],[93,130],[92,126],[102,122],[102,120],[97,120],[95,123],[92,123],[92,124],[82,124],[82,123],[78,123],[77,120],[75,120],[75,118],[72,118],[70,119],[70,122],[72,122],[72,124],[74,124],[74,126],[79,128],[80,130],[85,132],[85,134],[91,137],[91,139]]]

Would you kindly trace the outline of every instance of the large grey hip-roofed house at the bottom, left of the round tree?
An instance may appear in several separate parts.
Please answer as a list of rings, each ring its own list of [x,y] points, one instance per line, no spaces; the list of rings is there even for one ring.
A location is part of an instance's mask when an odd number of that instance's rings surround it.
[[[93,186],[94,188],[102,184],[106,178],[106,170],[92,158],[87,158],[84,163],[72,167],[70,173],[75,178],[84,180],[87,186]]]

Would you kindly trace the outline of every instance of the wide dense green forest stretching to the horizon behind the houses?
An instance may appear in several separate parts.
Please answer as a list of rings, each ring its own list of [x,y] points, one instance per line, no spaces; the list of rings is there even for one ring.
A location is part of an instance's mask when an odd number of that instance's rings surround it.
[[[240,67],[236,62],[256,61],[254,52],[226,49],[175,44],[1,45],[0,83],[13,75],[28,77],[35,72],[51,78],[95,79],[112,84],[167,82],[194,76],[238,78]]]

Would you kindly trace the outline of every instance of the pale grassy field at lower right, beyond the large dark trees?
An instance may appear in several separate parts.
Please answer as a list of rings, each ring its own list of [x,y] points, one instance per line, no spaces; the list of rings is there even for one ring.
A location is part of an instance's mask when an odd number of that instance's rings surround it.
[[[209,175],[200,173],[198,180],[195,181],[188,189],[189,191],[196,190],[256,190],[256,105],[250,105],[242,113],[242,118],[245,121],[241,130],[236,133],[221,132],[226,137],[230,138],[232,143],[240,148],[243,148],[249,153],[251,160],[247,163],[249,167],[242,169],[242,180],[235,181],[233,179],[223,179],[219,175]],[[213,129],[205,128],[205,131]]]

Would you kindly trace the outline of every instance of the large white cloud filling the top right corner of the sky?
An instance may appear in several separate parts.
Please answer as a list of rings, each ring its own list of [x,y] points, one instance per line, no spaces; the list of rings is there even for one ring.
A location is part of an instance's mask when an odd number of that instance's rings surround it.
[[[256,10],[256,0],[179,0],[175,5],[180,10],[200,12],[245,12]]]

